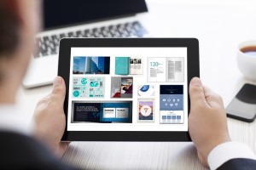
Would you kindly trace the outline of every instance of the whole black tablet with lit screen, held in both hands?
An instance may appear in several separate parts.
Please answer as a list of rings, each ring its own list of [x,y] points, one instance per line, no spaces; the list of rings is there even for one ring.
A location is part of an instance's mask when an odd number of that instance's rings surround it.
[[[63,141],[190,141],[195,38],[64,38]]]

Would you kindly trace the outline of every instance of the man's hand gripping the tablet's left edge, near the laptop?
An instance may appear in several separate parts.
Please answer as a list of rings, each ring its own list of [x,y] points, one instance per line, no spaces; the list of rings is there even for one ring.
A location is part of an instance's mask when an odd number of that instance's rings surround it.
[[[65,94],[64,80],[61,77],[56,77],[52,93],[38,102],[34,115],[35,136],[59,156],[64,154],[68,146],[68,143],[61,143],[66,126],[63,111]]]

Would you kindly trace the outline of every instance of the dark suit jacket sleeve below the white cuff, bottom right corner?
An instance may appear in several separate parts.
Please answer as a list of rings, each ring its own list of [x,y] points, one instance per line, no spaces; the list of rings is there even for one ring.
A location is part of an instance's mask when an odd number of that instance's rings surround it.
[[[218,167],[218,170],[255,170],[256,161],[252,159],[236,158],[230,161],[224,162],[224,164]]]

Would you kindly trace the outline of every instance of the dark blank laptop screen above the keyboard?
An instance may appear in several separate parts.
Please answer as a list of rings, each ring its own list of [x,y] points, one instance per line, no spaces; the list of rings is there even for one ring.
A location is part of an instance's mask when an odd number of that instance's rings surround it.
[[[147,11],[145,0],[44,0],[44,29]]]

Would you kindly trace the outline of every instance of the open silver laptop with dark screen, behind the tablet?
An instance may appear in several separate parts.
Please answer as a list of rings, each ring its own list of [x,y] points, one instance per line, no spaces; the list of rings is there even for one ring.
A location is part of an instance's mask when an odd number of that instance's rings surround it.
[[[25,88],[51,84],[57,76],[63,37],[148,37],[145,0],[44,0],[44,31],[23,80]]]

